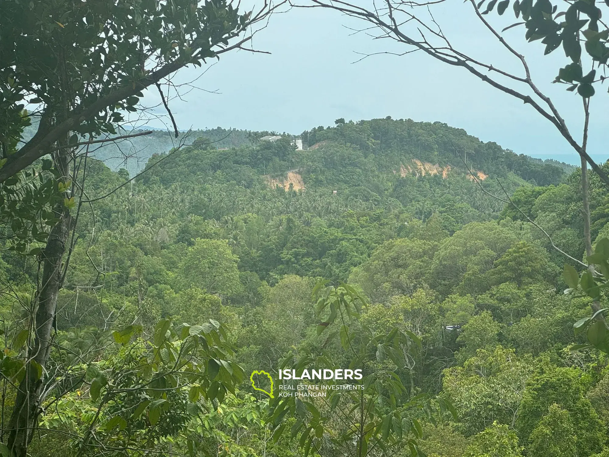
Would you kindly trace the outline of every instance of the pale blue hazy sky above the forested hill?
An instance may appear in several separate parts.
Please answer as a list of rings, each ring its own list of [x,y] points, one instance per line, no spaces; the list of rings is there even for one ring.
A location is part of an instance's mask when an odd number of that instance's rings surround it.
[[[366,0],[362,0],[364,2]],[[501,29],[514,21],[488,15]],[[472,15],[471,5],[448,0],[434,17],[452,44],[485,62],[518,72],[518,62]],[[407,55],[362,54],[403,52],[390,40],[373,40],[363,23],[328,9],[292,9],[273,15],[253,47],[270,54],[229,52],[203,70],[187,68],[174,82],[197,88],[171,101],[180,130],[233,127],[298,134],[337,118],[410,118],[440,121],[465,129],[482,141],[532,157],[555,158],[579,165],[579,155],[552,124],[529,105],[501,93],[461,68],[439,63],[420,52]],[[551,84],[558,68],[568,63],[561,48],[543,55],[543,44],[526,43],[515,27],[504,36],[526,55],[533,78],[555,102],[577,140],[581,137],[582,99]],[[145,103],[154,104],[150,91]],[[609,158],[607,121],[609,95],[603,89],[592,99],[588,152],[597,161]],[[163,114],[162,111],[158,113]],[[162,127],[158,121],[148,122]]]

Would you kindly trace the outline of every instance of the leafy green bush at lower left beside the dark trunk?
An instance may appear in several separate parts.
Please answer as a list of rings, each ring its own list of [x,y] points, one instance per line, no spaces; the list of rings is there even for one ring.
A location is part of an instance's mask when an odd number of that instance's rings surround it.
[[[65,446],[78,456],[145,454],[166,447],[167,436],[174,436],[175,450],[194,455],[199,439],[192,436],[192,422],[209,419],[210,406],[234,394],[243,380],[225,327],[211,320],[179,326],[162,320],[150,338],[128,325],[114,331],[113,339],[96,350],[102,357],[87,360],[87,351],[72,361],[71,377],[55,380],[58,386],[45,403],[52,411],[37,430],[68,437]],[[24,376],[23,363],[12,355],[3,356],[2,367],[4,375]],[[29,375],[40,378],[41,370]],[[203,434],[217,438],[209,430]],[[10,455],[7,446],[0,448]]]

